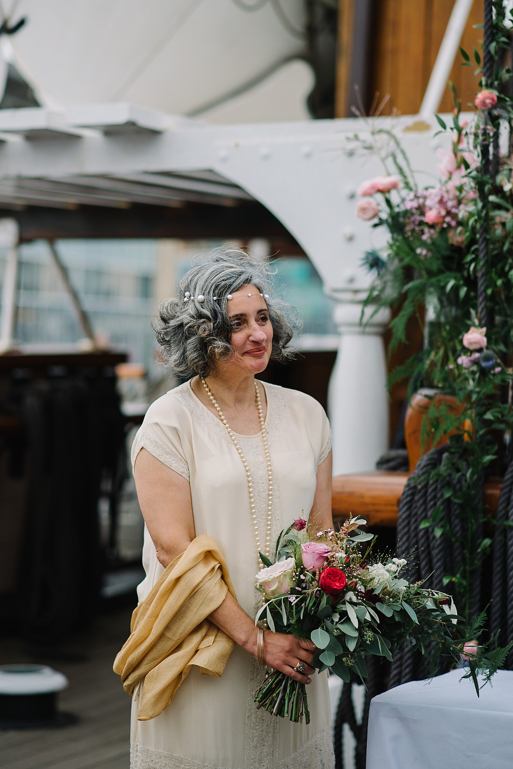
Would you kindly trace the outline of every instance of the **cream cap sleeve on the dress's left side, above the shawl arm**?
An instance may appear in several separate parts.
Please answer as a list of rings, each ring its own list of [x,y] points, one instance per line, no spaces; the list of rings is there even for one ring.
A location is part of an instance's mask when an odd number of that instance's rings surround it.
[[[189,468],[182,446],[180,404],[171,393],[152,403],[132,444],[132,472],[139,451],[145,448],[152,456],[189,480]]]

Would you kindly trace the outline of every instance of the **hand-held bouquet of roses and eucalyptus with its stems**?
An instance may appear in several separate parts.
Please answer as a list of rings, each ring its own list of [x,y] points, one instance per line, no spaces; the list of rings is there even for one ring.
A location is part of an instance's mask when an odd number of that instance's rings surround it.
[[[365,523],[349,518],[339,531],[319,531],[315,541],[308,541],[302,518],[281,531],[274,563],[260,554],[265,568],[256,575],[256,587],[265,603],[255,623],[266,620],[273,632],[311,638],[315,667],[320,672],[329,667],[346,682],[351,672],[365,682],[365,657],[376,654],[391,661],[394,649],[404,643],[430,657],[433,671],[443,652],[459,663],[464,645],[481,631],[484,614],[465,633],[450,595],[401,577],[404,558],[373,562],[373,542],[362,552],[363,543],[374,541],[361,530]],[[477,674],[488,681],[502,655],[485,657],[484,646],[475,648],[463,677],[472,677],[479,696]],[[255,702],[296,723],[303,717],[310,721],[305,684],[280,671],[265,676]]]

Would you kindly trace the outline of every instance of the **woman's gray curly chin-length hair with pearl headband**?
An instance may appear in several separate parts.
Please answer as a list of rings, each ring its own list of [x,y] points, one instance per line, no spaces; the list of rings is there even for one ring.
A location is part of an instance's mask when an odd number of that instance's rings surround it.
[[[216,248],[192,267],[178,284],[178,296],[159,306],[154,322],[162,357],[172,371],[185,379],[206,377],[216,361],[234,355],[228,294],[244,285],[254,285],[261,294],[270,294],[265,301],[273,330],[271,361],[291,358],[295,351],[289,345],[301,322],[294,308],[272,295],[272,276],[265,258],[239,248]],[[187,301],[186,291],[191,297]],[[201,302],[199,295],[205,297]]]

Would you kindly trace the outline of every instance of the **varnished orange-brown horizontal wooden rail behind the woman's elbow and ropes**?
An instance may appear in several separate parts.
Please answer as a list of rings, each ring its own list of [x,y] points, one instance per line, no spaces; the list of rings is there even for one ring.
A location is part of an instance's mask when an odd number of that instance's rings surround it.
[[[333,518],[345,519],[349,513],[365,517],[369,526],[397,526],[399,499],[409,473],[375,470],[333,478],[331,506]],[[497,511],[502,478],[488,478],[485,483],[485,508]]]

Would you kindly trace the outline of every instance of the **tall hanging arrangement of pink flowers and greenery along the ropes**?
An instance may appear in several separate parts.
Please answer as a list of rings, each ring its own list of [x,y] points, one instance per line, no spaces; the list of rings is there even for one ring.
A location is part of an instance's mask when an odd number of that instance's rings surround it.
[[[461,531],[442,525],[438,508],[421,525],[433,527],[437,539],[459,538],[464,562],[444,574],[443,584],[468,621],[483,560],[494,537],[503,535],[476,490],[487,474],[505,473],[513,431],[513,73],[505,58],[513,15],[499,0],[492,5],[494,42],[483,52],[488,68],[473,54],[475,115],[463,119],[449,84],[453,115],[437,116],[440,133],[450,139],[438,150],[438,182],[419,188],[399,138],[365,116],[368,135],[351,137],[349,150],[377,155],[384,170],[360,186],[355,211],[388,231],[387,244],[365,255],[375,276],[365,317],[391,309],[389,354],[408,345],[411,321],[424,335],[423,348],[391,371],[388,386],[408,381],[408,397],[435,388],[458,402],[450,409],[432,398],[421,441],[435,445],[451,436],[444,465],[434,472],[445,499],[465,511]],[[463,49],[461,56],[464,66],[473,65]],[[499,141],[500,132],[507,142]]]

